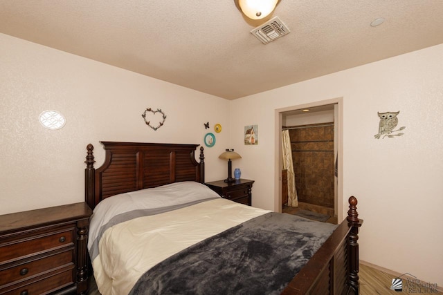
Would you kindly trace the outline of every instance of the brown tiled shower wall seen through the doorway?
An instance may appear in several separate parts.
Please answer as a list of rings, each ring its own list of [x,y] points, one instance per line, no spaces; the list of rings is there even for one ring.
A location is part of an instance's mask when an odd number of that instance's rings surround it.
[[[298,200],[334,208],[334,123],[293,126],[289,136]]]

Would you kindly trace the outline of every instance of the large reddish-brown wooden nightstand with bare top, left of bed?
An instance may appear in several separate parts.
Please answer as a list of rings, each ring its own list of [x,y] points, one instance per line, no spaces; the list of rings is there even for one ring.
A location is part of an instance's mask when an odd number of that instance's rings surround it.
[[[86,294],[84,202],[0,216],[0,294]]]

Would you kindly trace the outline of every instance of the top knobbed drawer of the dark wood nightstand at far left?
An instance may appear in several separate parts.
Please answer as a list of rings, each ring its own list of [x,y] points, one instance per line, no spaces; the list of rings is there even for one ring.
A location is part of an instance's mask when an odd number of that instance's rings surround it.
[[[73,240],[73,229],[35,233],[35,235],[26,238],[17,238],[17,240],[0,245],[0,264],[51,251],[52,249],[67,247],[73,245]]]

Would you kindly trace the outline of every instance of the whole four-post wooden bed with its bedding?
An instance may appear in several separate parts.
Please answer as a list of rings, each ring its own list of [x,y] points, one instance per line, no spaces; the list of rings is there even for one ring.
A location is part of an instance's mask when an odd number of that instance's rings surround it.
[[[98,169],[87,146],[85,200],[102,294],[359,294],[356,198],[326,225],[220,198],[198,144],[101,144]]]

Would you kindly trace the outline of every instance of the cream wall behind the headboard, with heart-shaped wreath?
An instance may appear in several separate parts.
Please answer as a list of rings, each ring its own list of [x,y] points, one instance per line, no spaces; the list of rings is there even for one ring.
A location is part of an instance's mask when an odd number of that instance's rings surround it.
[[[218,159],[229,142],[226,99],[8,35],[0,34],[0,44],[0,214],[82,202],[86,146],[95,146],[98,167],[100,140],[204,144],[213,132],[206,180],[226,178]],[[148,107],[167,115],[157,131],[141,117]],[[65,115],[63,129],[39,124],[47,109]]]

